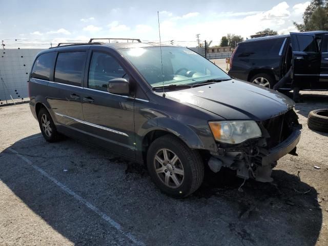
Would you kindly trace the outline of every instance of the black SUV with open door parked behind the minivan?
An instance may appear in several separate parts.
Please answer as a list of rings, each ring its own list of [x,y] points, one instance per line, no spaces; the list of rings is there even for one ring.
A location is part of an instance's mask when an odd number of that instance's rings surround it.
[[[292,64],[293,63],[293,64]],[[328,32],[313,31],[252,38],[238,44],[229,75],[268,88],[294,65],[301,90],[328,90]],[[286,84],[280,90],[292,90]]]

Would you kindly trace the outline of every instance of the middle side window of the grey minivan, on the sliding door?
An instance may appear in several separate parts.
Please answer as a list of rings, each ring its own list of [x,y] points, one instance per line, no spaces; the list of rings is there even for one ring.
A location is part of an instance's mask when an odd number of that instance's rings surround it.
[[[80,86],[86,63],[86,52],[59,53],[55,68],[55,82]]]

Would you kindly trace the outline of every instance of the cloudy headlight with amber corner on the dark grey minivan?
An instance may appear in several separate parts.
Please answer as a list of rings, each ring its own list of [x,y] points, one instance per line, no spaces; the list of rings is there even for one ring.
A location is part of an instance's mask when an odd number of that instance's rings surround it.
[[[261,130],[253,120],[211,121],[210,128],[215,140],[227,144],[241,142],[262,136]]]

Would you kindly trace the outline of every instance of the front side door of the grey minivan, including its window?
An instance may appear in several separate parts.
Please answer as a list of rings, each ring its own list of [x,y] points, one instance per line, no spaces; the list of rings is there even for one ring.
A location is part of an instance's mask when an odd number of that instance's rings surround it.
[[[129,75],[116,58],[103,50],[91,48],[81,95],[88,141],[114,152],[135,157],[134,97],[107,91],[108,81]]]

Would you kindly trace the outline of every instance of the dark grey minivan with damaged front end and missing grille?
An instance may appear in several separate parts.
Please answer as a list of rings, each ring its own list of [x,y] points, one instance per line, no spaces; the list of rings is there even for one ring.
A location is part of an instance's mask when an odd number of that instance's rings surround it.
[[[183,47],[86,43],[40,52],[30,107],[47,141],[67,135],[145,163],[161,191],[185,197],[205,165],[272,181],[300,128],[288,97],[238,79]]]

